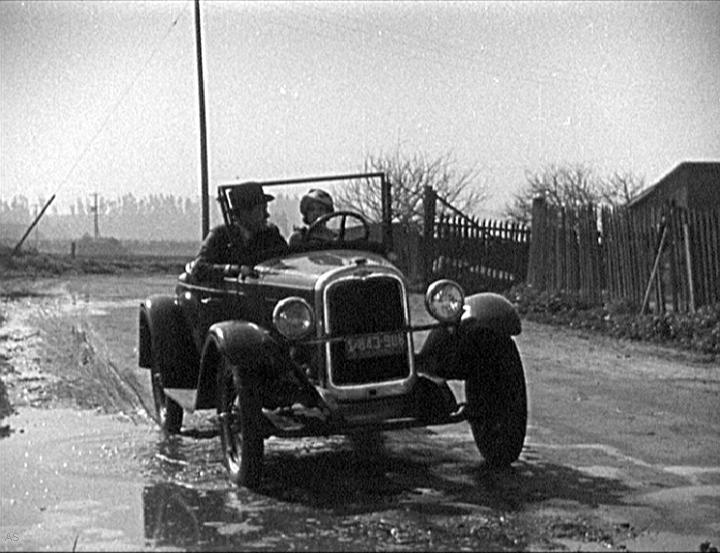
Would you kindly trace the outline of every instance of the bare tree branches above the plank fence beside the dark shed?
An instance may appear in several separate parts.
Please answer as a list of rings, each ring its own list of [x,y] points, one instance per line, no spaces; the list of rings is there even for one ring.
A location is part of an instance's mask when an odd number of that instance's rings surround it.
[[[505,207],[505,215],[530,223],[532,202],[538,196],[554,206],[582,207],[624,205],[637,196],[644,181],[630,172],[616,171],[603,178],[583,164],[550,165],[537,173],[526,172],[526,183]]]

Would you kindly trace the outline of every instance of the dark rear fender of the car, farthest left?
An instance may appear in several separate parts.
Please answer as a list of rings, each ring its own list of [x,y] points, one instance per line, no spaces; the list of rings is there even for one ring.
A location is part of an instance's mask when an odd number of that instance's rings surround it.
[[[140,304],[138,365],[152,369],[153,348],[175,352],[172,370],[163,372],[167,388],[192,388],[197,380],[198,354],[173,296],[153,295]]]

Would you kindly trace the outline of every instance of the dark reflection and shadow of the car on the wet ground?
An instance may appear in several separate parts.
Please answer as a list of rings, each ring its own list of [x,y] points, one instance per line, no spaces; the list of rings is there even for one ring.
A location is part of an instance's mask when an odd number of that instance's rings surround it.
[[[576,522],[551,509],[538,527],[523,521],[528,506],[623,504],[629,491],[544,462],[530,447],[526,460],[498,471],[423,438],[401,433],[370,448],[344,438],[269,440],[259,493],[227,481],[216,439],[164,440],[147,467],[157,482],[143,493],[145,538],[202,550],[517,550],[551,543],[558,521]],[[590,541],[612,542],[612,530],[583,524]]]

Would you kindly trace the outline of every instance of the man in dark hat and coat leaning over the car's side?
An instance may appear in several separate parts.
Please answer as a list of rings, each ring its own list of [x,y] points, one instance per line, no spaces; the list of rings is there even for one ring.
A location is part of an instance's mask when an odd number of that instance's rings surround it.
[[[197,280],[219,280],[230,274],[232,265],[254,265],[267,251],[287,248],[278,228],[268,223],[267,203],[274,199],[257,182],[231,188],[227,195],[230,224],[210,230],[190,275]]]

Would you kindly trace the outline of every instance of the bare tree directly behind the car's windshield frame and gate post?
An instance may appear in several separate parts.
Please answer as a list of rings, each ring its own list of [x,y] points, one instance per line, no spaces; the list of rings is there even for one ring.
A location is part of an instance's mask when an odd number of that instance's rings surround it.
[[[425,186],[431,186],[442,199],[469,214],[486,199],[484,187],[477,185],[478,171],[474,168],[457,169],[449,153],[435,159],[419,153],[405,157],[400,149],[393,154],[368,154],[363,171],[386,174],[392,186],[393,220],[415,228],[422,227]],[[378,182],[352,182],[336,192],[336,203],[341,208],[362,213],[369,221],[379,222],[382,219]]]

